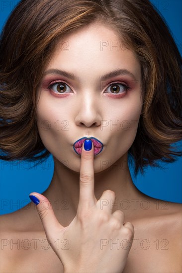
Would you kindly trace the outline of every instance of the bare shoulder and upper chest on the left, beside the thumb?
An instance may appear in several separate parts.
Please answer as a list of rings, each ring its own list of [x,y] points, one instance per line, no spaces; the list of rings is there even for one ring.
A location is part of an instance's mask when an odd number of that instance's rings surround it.
[[[34,209],[0,215],[0,272],[63,272],[59,258],[48,245],[43,227],[37,226],[40,218],[36,215]]]

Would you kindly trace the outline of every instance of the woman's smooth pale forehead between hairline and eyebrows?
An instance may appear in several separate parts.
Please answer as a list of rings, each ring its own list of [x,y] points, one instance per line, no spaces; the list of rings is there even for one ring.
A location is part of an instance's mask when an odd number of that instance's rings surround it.
[[[140,64],[135,53],[111,27],[100,23],[83,27],[60,40],[46,70],[54,68],[77,71],[81,77],[88,70],[96,77],[100,70],[104,74],[123,68],[140,78]]]

